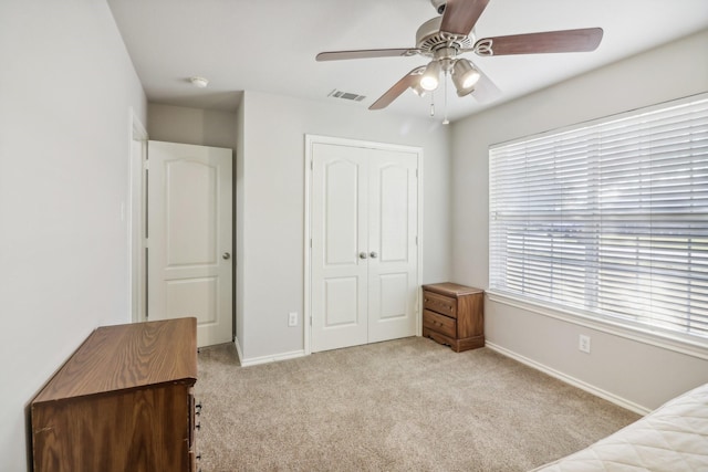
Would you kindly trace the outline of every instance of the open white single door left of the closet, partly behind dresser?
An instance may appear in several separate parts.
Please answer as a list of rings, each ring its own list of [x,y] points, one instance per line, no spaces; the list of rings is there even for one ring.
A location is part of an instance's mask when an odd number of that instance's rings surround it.
[[[197,344],[232,337],[231,149],[148,143],[147,317],[197,317]]]

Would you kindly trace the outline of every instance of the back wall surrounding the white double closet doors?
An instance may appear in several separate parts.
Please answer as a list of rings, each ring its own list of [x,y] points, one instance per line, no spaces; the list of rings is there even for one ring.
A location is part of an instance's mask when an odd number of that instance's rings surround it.
[[[246,92],[237,204],[237,338],[242,359],[304,349],[304,139],[336,136],[424,148],[424,281],[449,276],[448,129],[362,105],[305,102]],[[239,202],[240,200],[240,202]],[[242,245],[240,245],[242,244]],[[301,323],[288,327],[288,313]]]

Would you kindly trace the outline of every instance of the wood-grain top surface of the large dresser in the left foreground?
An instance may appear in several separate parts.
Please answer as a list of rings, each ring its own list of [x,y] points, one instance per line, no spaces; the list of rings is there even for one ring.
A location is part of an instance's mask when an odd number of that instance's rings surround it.
[[[34,402],[197,379],[194,317],[94,331]]]

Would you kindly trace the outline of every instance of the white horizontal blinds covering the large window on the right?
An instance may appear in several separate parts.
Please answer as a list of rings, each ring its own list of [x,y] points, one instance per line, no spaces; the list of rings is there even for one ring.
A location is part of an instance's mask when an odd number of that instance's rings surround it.
[[[708,97],[490,149],[490,290],[708,345]]]

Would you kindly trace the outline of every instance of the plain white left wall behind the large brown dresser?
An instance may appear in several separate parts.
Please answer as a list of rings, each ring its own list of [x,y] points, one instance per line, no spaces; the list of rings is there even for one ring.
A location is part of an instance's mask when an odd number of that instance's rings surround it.
[[[0,457],[27,469],[29,401],[97,326],[127,323],[129,107],[108,7],[0,2]]]

